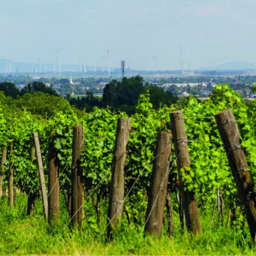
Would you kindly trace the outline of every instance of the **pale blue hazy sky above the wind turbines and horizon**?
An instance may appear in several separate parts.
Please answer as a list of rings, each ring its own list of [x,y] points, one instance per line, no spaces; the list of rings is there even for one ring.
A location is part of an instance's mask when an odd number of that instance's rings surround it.
[[[180,46],[191,68],[256,62],[255,0],[1,0],[0,58],[98,65],[110,46],[111,66],[180,68]],[[105,62],[107,60],[105,59]],[[106,63],[107,64],[107,63]],[[188,65],[188,64],[187,64]]]

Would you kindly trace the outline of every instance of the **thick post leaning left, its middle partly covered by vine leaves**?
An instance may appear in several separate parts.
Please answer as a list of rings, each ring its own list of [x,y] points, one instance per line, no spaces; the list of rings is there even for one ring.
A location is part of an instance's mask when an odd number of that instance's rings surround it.
[[[185,168],[190,167],[190,155],[182,110],[171,112],[170,119],[187,229],[193,233],[201,233],[195,193],[184,188],[182,183],[182,171],[186,171]]]

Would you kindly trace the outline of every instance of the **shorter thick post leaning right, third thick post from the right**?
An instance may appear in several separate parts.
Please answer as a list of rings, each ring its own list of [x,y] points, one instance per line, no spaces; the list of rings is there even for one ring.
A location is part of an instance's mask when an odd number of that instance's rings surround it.
[[[145,232],[161,237],[171,155],[171,134],[158,132],[151,187],[149,188]]]

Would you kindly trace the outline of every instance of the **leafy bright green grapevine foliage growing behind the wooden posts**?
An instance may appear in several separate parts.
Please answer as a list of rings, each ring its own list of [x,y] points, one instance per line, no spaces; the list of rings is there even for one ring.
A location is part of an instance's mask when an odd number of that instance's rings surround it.
[[[216,189],[226,198],[236,194],[235,183],[227,162],[226,152],[216,128],[215,113],[232,108],[240,130],[242,146],[252,178],[256,182],[256,101],[244,102],[238,93],[227,86],[218,85],[213,95],[199,102],[193,96],[180,100],[171,107],[152,108],[149,94],[141,95],[136,113],[130,116],[130,139],[127,145],[125,167],[126,192],[134,180],[140,179],[133,187],[127,204],[137,222],[143,222],[141,213],[146,209],[146,194],[150,185],[152,160],[154,158],[157,132],[171,131],[169,112],[183,110],[185,129],[190,151],[191,169],[183,176],[187,190],[195,191],[198,201],[216,199]],[[7,149],[7,160],[1,167],[0,187],[7,183],[10,159],[13,161],[14,183],[18,191],[28,195],[33,205],[40,196],[36,163],[31,160],[32,133],[37,132],[43,158],[44,175],[48,180],[48,146],[54,141],[59,166],[60,190],[69,205],[71,193],[71,161],[73,126],[81,124],[85,129],[84,151],[81,157],[85,196],[93,190],[96,200],[108,198],[113,150],[115,147],[116,123],[119,117],[128,117],[123,112],[94,108],[93,112],[77,112],[67,108],[49,116],[35,115],[24,108],[12,107],[9,99],[0,94],[0,153]],[[12,146],[12,152],[9,152]],[[172,150],[171,161],[175,154]],[[141,174],[141,171],[143,173]],[[171,190],[179,188],[177,169],[169,174]],[[96,188],[96,189],[95,189]],[[199,207],[202,205],[199,202]],[[136,205],[136,207],[134,207]],[[144,216],[144,215],[143,215]]]

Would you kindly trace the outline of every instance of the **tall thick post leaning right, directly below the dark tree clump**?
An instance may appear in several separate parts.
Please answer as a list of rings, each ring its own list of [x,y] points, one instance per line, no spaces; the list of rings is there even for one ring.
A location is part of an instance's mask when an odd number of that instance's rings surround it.
[[[116,127],[115,151],[108,201],[107,233],[110,236],[116,226],[121,224],[124,206],[124,165],[126,163],[126,146],[130,136],[130,119],[118,118]]]

